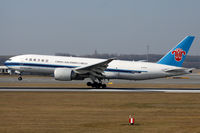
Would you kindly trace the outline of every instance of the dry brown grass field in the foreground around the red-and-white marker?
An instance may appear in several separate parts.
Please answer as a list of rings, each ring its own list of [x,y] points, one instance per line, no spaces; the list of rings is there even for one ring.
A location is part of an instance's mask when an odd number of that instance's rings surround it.
[[[136,125],[128,125],[135,113]],[[1,92],[0,132],[200,132],[200,94]]]

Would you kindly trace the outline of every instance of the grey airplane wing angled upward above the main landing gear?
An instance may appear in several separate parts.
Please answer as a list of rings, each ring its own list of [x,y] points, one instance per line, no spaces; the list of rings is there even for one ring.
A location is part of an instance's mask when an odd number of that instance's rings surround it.
[[[95,63],[92,65],[78,67],[75,69],[75,72],[77,72],[78,74],[89,74],[94,77],[102,78],[103,72],[108,67],[108,64],[113,60],[114,60],[114,58],[110,58],[105,61]]]

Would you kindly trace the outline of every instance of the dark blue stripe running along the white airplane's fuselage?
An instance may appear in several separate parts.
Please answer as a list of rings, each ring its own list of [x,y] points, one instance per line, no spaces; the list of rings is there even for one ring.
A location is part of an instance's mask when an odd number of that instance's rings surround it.
[[[31,67],[49,67],[49,68],[76,68],[79,66],[68,66],[68,65],[52,65],[52,64],[36,64],[36,63],[17,63],[17,62],[5,62],[5,66],[31,66]],[[122,72],[122,73],[141,73],[147,71],[138,71],[138,70],[125,70],[125,69],[111,69],[108,68],[106,72]]]

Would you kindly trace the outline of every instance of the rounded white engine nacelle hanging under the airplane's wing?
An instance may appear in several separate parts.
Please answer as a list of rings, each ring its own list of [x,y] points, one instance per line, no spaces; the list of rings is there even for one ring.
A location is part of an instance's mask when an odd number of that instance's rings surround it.
[[[55,80],[71,81],[76,76],[75,72],[69,68],[56,68],[54,70]]]

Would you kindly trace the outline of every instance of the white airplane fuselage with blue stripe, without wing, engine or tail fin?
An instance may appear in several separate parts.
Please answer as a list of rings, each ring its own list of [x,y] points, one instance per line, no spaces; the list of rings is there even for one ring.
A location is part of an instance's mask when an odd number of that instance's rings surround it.
[[[56,68],[75,69],[84,67],[106,59],[80,58],[48,55],[19,55],[5,62],[5,65],[14,71],[54,74]],[[184,71],[169,72],[167,70]],[[113,60],[104,71],[106,79],[146,80],[163,78],[190,73],[189,69],[150,62]],[[89,77],[87,77],[89,78]]]

